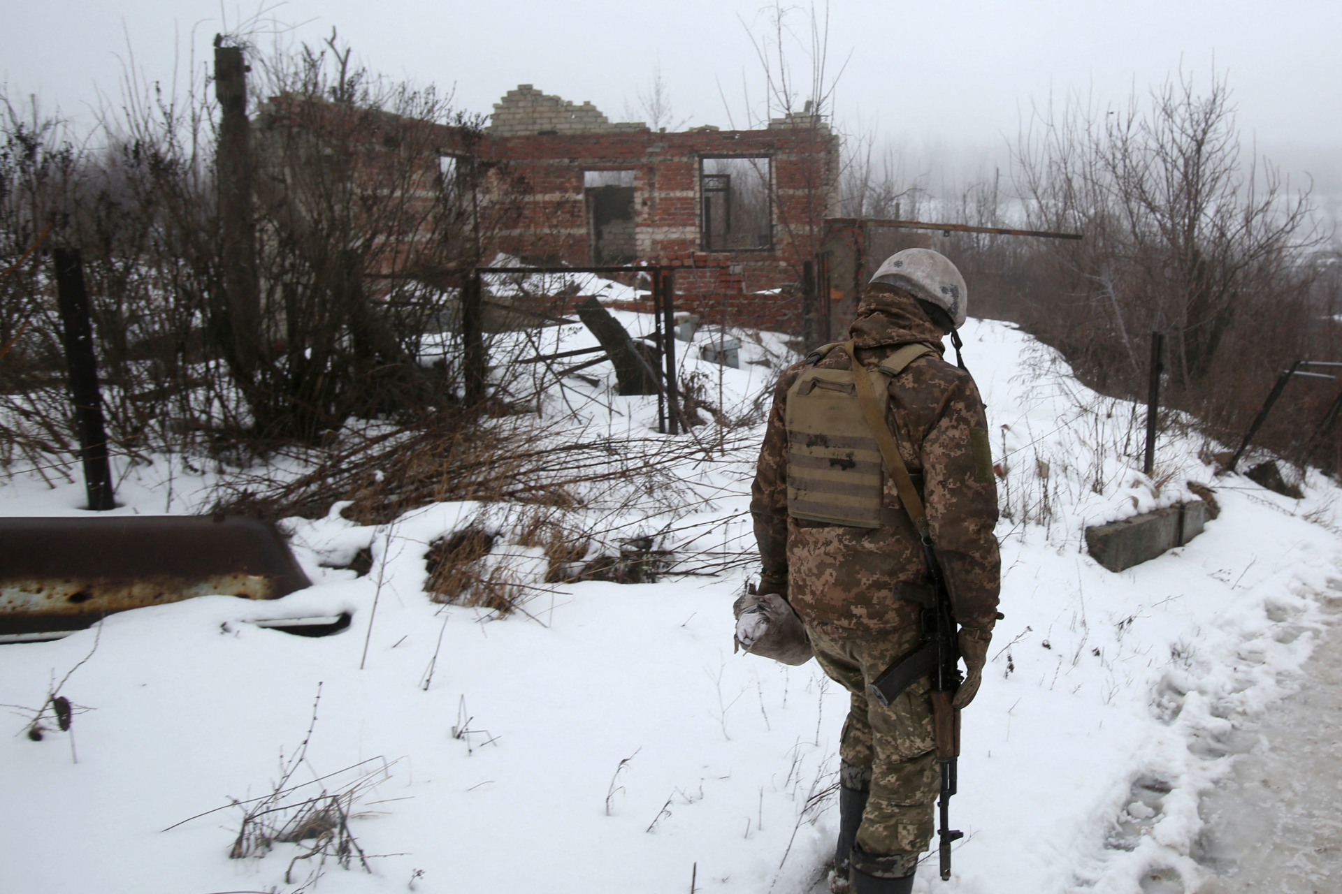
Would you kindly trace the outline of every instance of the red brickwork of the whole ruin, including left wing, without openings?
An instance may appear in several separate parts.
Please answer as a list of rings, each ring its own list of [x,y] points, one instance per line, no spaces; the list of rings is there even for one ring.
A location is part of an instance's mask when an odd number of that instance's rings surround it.
[[[637,257],[678,268],[678,310],[706,322],[801,331],[801,265],[820,251],[823,220],[837,198],[837,137],[823,125],[780,119],[766,130],[682,133],[611,125],[600,133],[497,137],[287,97],[272,98],[266,114],[268,126],[315,127],[327,139],[353,131],[344,135],[364,146],[356,164],[365,166],[365,177],[377,177],[373,169],[381,154],[423,155],[409,180],[386,184],[389,190],[409,192],[411,206],[440,201],[439,154],[476,157],[486,172],[480,190],[486,260],[503,251],[526,261],[590,264],[582,173],[632,170]],[[699,166],[706,157],[772,159],[772,248],[703,251]],[[409,243],[427,237],[409,235]]]

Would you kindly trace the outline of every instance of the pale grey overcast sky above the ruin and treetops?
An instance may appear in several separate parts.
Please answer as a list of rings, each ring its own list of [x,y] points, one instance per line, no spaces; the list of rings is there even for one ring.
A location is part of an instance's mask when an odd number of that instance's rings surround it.
[[[192,48],[201,64],[215,32],[260,11],[297,25],[290,40],[319,42],[336,25],[370,68],[455,87],[458,105],[474,111],[488,113],[505,91],[531,83],[623,119],[660,66],[678,118],[726,127],[745,117],[743,83],[761,97],[747,34],[766,31],[761,5],[11,0],[0,78],[11,98],[35,92],[46,107],[85,118],[99,91],[118,94],[127,48],[148,80],[169,82],[174,59],[185,76]],[[805,28],[800,7],[792,21]],[[918,150],[981,154],[1016,135],[1031,103],[1068,91],[1121,102],[1182,66],[1204,84],[1213,71],[1228,75],[1245,137],[1330,188],[1342,182],[1339,47],[1337,0],[835,0],[829,11],[831,71],[848,58],[837,87],[848,131],[860,118]],[[805,74],[809,60],[800,50],[793,58]]]

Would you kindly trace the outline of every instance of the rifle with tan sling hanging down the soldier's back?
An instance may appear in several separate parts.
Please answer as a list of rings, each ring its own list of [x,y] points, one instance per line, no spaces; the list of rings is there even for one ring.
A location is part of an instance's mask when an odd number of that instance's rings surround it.
[[[872,698],[882,705],[890,705],[895,697],[907,689],[913,682],[931,674],[931,712],[933,712],[933,740],[937,747],[937,764],[941,771],[941,797],[937,802],[941,826],[937,830],[938,851],[941,855],[941,878],[950,878],[950,844],[964,838],[960,830],[950,828],[950,797],[956,793],[957,759],[960,757],[960,712],[951,705],[956,690],[960,688],[960,641],[956,635],[956,613],[950,600],[950,591],[946,588],[946,578],[942,574],[941,563],[931,540],[931,531],[927,527],[927,512],[923,508],[918,488],[914,487],[909,469],[905,466],[899,448],[895,445],[890,426],[886,425],[884,413],[876,402],[871,379],[866,375],[858,355],[854,353],[854,343],[845,346],[848,358],[854,369],[854,383],[858,391],[858,401],[862,403],[867,425],[871,428],[880,448],[880,454],[886,460],[895,488],[899,491],[899,501],[918,529],[918,539],[922,543],[923,558],[927,560],[927,576],[931,580],[931,604],[922,613],[923,646],[903,661],[898,661],[887,667],[876,680],[871,682]]]

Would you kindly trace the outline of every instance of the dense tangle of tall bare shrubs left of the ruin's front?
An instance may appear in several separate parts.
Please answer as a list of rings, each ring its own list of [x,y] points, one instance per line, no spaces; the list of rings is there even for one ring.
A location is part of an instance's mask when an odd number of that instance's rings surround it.
[[[476,164],[478,115],[353,66],[334,34],[246,50],[250,118],[205,79],[127,83],[81,141],[0,95],[0,268],[52,224],[48,245],[81,251],[114,454],[242,464],[350,420],[460,414],[460,271],[526,185]],[[0,277],[7,466],[74,450],[47,268]]]

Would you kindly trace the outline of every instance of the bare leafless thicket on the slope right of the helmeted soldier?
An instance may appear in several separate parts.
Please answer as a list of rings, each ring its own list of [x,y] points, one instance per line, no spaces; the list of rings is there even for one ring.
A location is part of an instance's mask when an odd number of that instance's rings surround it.
[[[1233,446],[1283,369],[1342,359],[1342,272],[1308,184],[1243,145],[1224,76],[1200,86],[1180,72],[1118,107],[1068,99],[1036,110],[1012,177],[989,170],[931,202],[898,155],[883,165],[866,149],[849,151],[855,209],[888,214],[903,201],[947,222],[1084,235],[949,233],[933,244],[972,284],[976,315],[1020,323],[1102,394],[1145,398],[1150,334],[1161,331],[1162,402]],[[1325,416],[1335,394],[1292,383],[1259,442],[1338,468],[1342,441]],[[1162,430],[1176,418],[1162,414]]]

